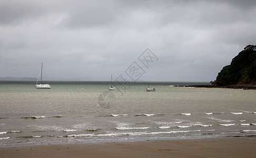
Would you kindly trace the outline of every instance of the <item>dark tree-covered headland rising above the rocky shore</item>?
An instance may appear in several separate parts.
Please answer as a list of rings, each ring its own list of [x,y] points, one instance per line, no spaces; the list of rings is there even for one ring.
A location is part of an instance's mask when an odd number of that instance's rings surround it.
[[[214,81],[215,85],[256,83],[256,46],[248,45],[232,59],[230,65],[224,66]]]

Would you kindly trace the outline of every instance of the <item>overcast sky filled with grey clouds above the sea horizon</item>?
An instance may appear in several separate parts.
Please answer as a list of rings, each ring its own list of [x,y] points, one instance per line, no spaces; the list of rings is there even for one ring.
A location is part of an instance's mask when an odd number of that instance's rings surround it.
[[[132,81],[139,65],[136,81],[214,81],[256,44],[255,15],[254,0],[0,0],[0,77],[37,78],[43,62],[47,80]]]

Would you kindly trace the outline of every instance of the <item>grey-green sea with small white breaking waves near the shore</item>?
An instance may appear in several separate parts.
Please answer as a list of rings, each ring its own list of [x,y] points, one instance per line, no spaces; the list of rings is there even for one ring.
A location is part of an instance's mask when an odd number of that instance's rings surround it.
[[[255,90],[149,84],[0,82],[0,146],[256,135]]]

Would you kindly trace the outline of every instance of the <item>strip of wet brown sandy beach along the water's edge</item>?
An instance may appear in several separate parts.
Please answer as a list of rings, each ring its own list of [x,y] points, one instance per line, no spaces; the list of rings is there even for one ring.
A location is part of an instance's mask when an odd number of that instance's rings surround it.
[[[1,147],[0,157],[255,157],[256,137]]]

